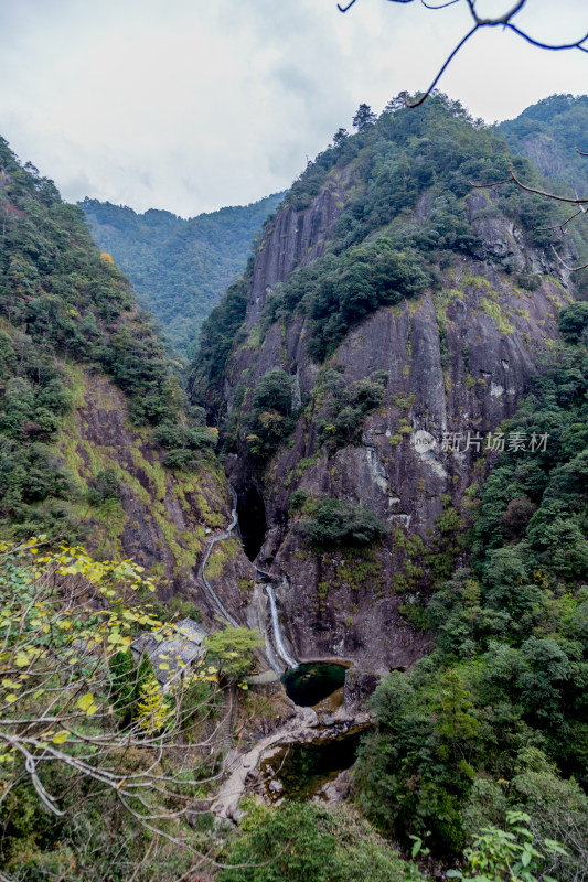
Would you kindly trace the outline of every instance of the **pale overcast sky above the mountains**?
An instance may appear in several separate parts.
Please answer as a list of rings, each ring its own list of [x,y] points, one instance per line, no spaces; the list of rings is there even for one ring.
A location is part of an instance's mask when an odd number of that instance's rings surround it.
[[[588,0],[527,0],[517,22],[577,40]],[[469,28],[464,2],[356,0],[343,15],[336,0],[2,0],[0,133],[67,200],[191,217],[286,189],[360,103],[426,88]],[[588,54],[488,30],[440,88],[509,119],[587,93]]]

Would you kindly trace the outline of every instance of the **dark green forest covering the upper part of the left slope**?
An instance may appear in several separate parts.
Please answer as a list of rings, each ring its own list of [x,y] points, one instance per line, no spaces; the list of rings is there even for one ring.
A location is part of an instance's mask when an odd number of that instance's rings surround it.
[[[14,536],[79,537],[75,488],[51,445],[72,409],[65,359],[99,366],[135,422],[177,421],[183,394],[128,281],[96,250],[79,208],[0,139],[0,520]],[[98,475],[89,501],[115,495]]]

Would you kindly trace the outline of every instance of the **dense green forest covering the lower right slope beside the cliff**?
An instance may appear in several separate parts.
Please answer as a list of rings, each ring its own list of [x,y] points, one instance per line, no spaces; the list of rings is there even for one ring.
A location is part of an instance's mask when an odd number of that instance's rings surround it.
[[[359,798],[393,836],[458,851],[509,808],[564,842],[558,880],[588,863],[588,348],[564,310],[564,347],[510,428],[549,433],[541,455],[503,454],[481,491],[470,567],[430,600],[435,650],[372,699]],[[579,318],[578,318],[579,316]],[[555,833],[557,831],[557,833]]]

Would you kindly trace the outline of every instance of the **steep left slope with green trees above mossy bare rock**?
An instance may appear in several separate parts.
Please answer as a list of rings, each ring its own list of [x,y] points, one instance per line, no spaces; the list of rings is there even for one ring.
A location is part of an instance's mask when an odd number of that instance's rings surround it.
[[[161,598],[195,601],[212,621],[199,566],[232,509],[216,433],[184,409],[149,316],[81,209],[4,141],[0,196],[2,535],[135,557]],[[250,574],[233,550],[232,577]],[[227,600],[237,615],[238,594]]]

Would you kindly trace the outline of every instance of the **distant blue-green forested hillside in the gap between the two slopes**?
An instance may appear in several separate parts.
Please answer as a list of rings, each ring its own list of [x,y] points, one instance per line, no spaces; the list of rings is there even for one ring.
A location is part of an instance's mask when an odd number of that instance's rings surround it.
[[[79,207],[99,247],[127,273],[169,343],[189,355],[202,322],[245,269],[253,236],[282,195],[190,220],[153,208],[137,214],[90,198]]]

